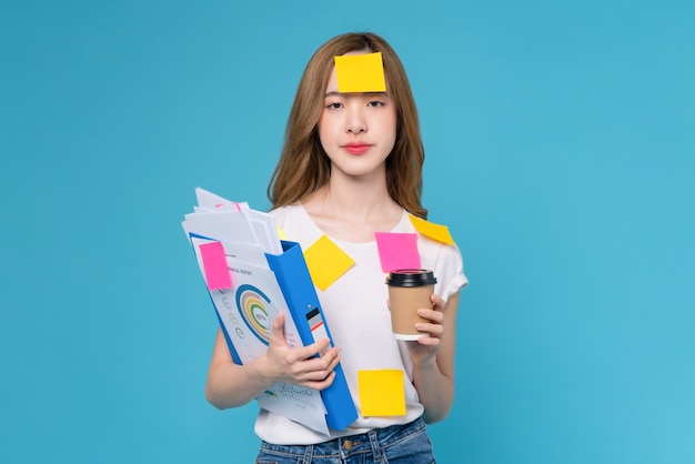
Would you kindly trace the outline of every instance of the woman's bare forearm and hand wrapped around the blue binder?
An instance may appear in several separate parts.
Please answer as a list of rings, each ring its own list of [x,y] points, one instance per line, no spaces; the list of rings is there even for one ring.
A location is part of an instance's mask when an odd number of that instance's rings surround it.
[[[330,347],[328,339],[308,346],[292,349],[284,339],[284,315],[273,322],[268,350],[259,359],[244,365],[234,364],[222,330],[212,351],[208,370],[205,397],[223,410],[241,406],[276,382],[323,390],[333,383],[333,369],[339,362],[340,349]],[[315,354],[323,353],[320,357]]]

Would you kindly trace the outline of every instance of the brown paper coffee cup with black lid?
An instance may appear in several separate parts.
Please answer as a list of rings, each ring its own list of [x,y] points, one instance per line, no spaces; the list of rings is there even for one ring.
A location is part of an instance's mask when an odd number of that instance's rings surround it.
[[[417,322],[430,322],[417,314],[421,307],[432,307],[436,278],[425,269],[399,269],[389,273],[389,305],[391,329],[397,340],[417,340],[426,335],[415,329]]]

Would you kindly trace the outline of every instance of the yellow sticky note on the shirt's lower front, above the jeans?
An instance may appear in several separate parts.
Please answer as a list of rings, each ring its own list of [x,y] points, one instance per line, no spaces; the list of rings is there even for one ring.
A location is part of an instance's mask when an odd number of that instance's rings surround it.
[[[357,389],[363,416],[405,415],[403,371],[357,371]]]

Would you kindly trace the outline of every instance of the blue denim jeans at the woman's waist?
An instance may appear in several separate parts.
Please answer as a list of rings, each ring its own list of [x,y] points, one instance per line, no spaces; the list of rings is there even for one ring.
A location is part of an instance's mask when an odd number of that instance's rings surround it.
[[[375,428],[315,445],[273,445],[262,442],[256,464],[434,464],[425,423]]]

